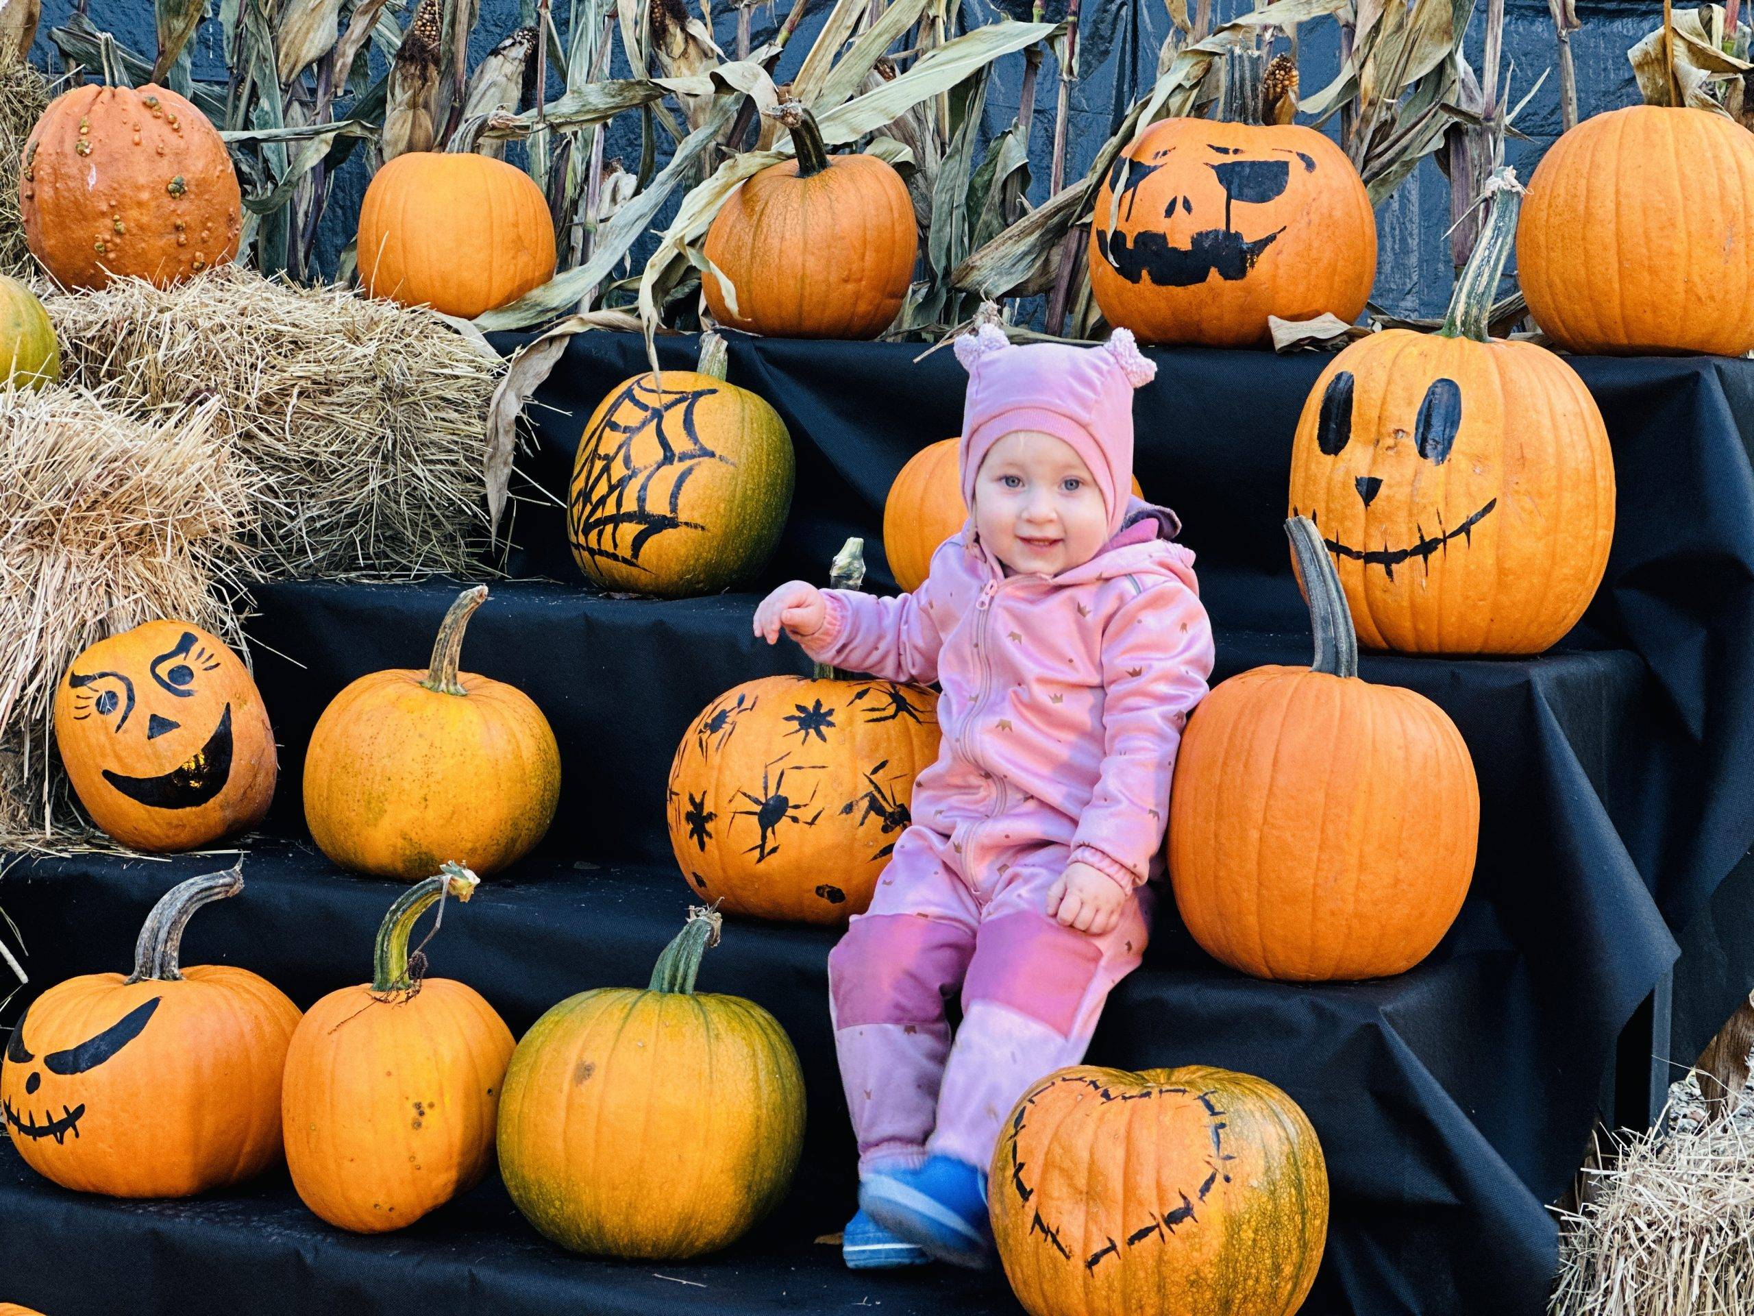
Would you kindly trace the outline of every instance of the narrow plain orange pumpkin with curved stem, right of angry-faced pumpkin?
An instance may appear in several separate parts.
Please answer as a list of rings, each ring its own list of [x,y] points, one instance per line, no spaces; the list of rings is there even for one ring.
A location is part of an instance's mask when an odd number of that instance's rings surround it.
[[[479,879],[446,863],[377,930],[372,981],[323,997],[293,1033],[281,1112],[293,1188],[354,1234],[405,1228],[474,1188],[493,1163],[512,1032],[472,986],[417,977],[414,923]]]

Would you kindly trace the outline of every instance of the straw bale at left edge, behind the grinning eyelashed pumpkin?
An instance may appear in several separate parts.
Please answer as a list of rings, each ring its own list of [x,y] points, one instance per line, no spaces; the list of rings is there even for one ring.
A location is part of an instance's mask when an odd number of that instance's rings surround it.
[[[165,616],[242,642],[256,477],[217,419],[216,404],[147,423],[86,390],[0,391],[0,844],[84,826],[51,716],[82,649]]]

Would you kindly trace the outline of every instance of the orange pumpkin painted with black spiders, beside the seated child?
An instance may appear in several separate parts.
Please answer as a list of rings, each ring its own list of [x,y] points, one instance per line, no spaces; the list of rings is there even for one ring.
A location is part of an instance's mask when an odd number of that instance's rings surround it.
[[[856,588],[861,540],[831,581]],[[938,756],[938,697],[895,681],[765,676],[695,719],[670,763],[670,848],[731,914],[845,923],[863,914]]]

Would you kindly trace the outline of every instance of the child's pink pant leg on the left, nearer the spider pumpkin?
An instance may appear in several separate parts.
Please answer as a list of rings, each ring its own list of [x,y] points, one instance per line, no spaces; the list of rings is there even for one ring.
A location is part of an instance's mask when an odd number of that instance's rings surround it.
[[[828,956],[835,1051],[861,1176],[926,1158],[951,1051],[944,1002],[975,951],[975,902],[947,851],[935,832],[903,832],[870,911]]]

